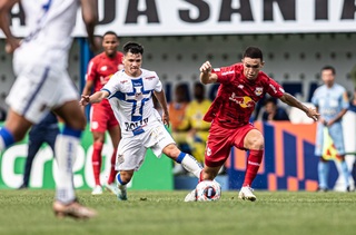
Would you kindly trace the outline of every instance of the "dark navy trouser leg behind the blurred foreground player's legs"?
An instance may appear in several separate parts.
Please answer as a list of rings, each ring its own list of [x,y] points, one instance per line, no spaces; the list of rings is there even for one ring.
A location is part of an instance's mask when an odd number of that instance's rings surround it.
[[[29,135],[29,148],[28,148],[28,155],[24,164],[24,173],[23,173],[23,183],[20,187],[21,188],[28,188],[29,186],[29,179],[30,179],[30,173],[32,168],[33,158],[37,154],[37,151],[40,149],[41,145],[44,141],[43,135],[41,133],[34,133]]]

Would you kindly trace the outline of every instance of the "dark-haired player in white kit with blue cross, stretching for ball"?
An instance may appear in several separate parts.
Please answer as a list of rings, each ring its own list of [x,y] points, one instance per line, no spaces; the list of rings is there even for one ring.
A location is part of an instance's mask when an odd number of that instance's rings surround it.
[[[169,125],[169,114],[162,85],[155,71],[141,69],[144,47],[136,42],[123,46],[125,70],[118,71],[92,96],[82,96],[80,104],[100,102],[109,99],[111,108],[121,127],[121,136],[116,169],[118,199],[127,199],[127,184],[134,172],[144,164],[146,151],[150,148],[159,158],[161,154],[184,165],[195,176],[199,177],[202,167],[196,159],[180,151],[166,129]],[[154,107],[152,96],[160,102],[162,117]],[[158,170],[158,169],[155,169]]]

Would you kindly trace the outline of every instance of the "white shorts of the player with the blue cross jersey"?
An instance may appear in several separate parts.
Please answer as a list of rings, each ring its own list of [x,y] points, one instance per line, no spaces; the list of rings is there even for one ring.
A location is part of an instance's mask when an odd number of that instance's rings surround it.
[[[123,137],[118,147],[115,168],[116,170],[135,169],[138,172],[145,161],[148,148],[160,158],[164,148],[170,144],[176,143],[161,123],[140,135]]]

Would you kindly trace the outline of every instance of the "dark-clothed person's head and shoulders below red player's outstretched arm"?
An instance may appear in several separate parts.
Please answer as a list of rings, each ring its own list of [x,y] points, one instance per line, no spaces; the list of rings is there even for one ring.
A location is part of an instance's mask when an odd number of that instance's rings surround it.
[[[277,99],[268,97],[265,100],[265,111],[263,114],[263,120],[289,120],[286,110],[277,106]]]

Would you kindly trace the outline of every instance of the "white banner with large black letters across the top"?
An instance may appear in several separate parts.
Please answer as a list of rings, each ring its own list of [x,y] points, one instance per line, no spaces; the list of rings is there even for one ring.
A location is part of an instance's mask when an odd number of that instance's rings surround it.
[[[354,0],[99,0],[99,35],[127,36],[296,33],[356,31]],[[12,9],[16,36],[28,29]],[[85,37],[80,13],[73,37]],[[0,37],[3,37],[0,32]]]

